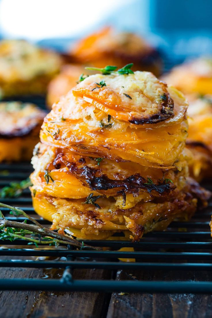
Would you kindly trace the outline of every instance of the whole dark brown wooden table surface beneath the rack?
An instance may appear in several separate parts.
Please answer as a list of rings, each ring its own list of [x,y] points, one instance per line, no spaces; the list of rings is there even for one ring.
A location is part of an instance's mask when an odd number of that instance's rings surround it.
[[[8,257],[5,259],[8,259]],[[1,268],[0,278],[60,278],[60,269]],[[113,277],[111,277],[113,275]],[[211,280],[210,272],[74,270],[75,279]],[[123,291],[124,292],[124,291]],[[203,318],[212,296],[202,294],[107,294],[0,291],[1,318]]]

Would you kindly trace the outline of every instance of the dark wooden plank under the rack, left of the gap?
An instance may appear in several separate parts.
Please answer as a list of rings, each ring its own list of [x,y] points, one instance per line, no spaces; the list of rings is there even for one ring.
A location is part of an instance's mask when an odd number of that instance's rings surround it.
[[[51,268],[1,268],[0,278],[59,279],[62,273],[60,269]],[[110,279],[111,272],[95,269],[74,270],[73,278]],[[104,293],[0,291],[0,317],[101,318],[106,316],[109,301],[110,295]]]

